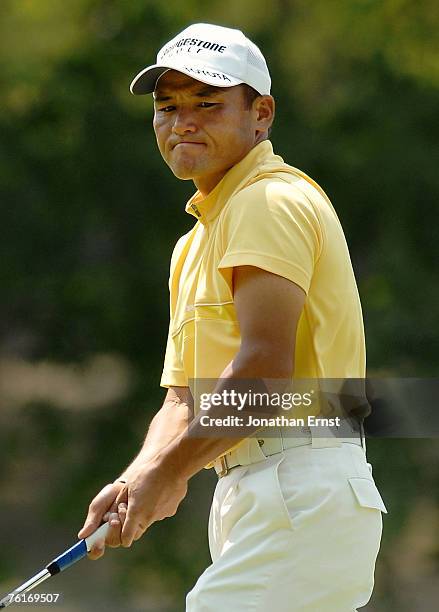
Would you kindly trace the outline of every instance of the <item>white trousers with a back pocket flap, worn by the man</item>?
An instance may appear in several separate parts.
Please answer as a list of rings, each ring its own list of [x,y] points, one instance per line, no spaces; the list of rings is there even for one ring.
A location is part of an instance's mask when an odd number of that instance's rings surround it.
[[[187,612],[354,612],[372,594],[387,512],[364,450],[292,448],[215,489],[212,564]]]

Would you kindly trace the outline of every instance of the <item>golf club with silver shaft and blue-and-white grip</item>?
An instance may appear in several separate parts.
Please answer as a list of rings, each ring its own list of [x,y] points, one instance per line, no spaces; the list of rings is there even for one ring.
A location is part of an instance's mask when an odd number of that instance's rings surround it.
[[[19,593],[26,593],[27,591],[34,589],[51,576],[55,576],[55,574],[63,572],[65,569],[79,561],[79,559],[85,557],[92,549],[95,542],[105,539],[108,527],[109,524],[104,523],[94,533],[88,536],[88,538],[80,540],[61,555],[56,557],[56,559],[53,559],[53,561],[46,565],[46,567],[38,572],[38,574],[35,574],[35,576],[3,597],[3,599],[0,600],[0,608],[7,608],[9,605],[11,605],[11,603],[14,603],[14,597]]]

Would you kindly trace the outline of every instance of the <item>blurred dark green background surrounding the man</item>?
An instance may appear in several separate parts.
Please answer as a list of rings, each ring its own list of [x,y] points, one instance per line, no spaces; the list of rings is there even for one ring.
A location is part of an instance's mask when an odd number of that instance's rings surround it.
[[[191,22],[239,27],[263,49],[275,150],[324,187],[345,228],[369,375],[437,374],[437,8],[2,0],[0,591],[72,543],[164,396],[169,258],[193,223],[184,212],[193,185],[162,162],[151,100],[128,87]],[[437,440],[370,440],[368,452],[390,512],[367,610],[432,612]],[[41,590],[62,592],[63,612],[183,610],[209,561],[215,480],[196,477],[178,516],[131,550],[84,561]]]

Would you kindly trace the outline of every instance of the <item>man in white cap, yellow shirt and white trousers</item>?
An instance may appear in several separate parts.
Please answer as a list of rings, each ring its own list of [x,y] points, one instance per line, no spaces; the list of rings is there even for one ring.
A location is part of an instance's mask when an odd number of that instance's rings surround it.
[[[158,147],[178,178],[194,182],[186,211],[196,223],[171,260],[166,398],[79,536],[109,520],[105,544],[131,546],[213,465],[213,563],[186,609],[352,612],[372,592],[385,512],[361,436],[306,427],[300,437],[282,427],[274,437],[191,435],[202,429],[191,380],[217,380],[221,393],[243,379],[365,376],[343,232],[320,187],[273,153],[270,85],[256,45],[208,24],[178,34],[131,84],[153,93]],[[103,552],[100,543],[90,556]]]

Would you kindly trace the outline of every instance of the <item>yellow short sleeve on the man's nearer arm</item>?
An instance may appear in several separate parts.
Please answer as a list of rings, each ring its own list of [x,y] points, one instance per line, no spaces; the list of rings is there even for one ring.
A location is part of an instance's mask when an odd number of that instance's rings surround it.
[[[240,191],[222,219],[218,269],[255,266],[278,274],[308,293],[320,255],[322,232],[313,203],[294,184],[260,180]]]

